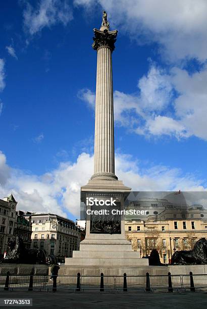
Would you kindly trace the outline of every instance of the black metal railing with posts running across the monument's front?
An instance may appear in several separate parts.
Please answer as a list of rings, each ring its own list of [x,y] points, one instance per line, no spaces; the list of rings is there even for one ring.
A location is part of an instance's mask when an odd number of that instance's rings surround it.
[[[74,291],[84,290],[143,290],[153,291],[155,289],[167,289],[169,292],[176,290],[195,291],[196,289],[207,288],[207,274],[193,275],[127,275],[105,276],[98,275],[60,275],[50,279],[48,275],[13,275],[7,272],[0,275],[0,289],[5,291],[14,289],[33,290],[53,290],[72,289]]]

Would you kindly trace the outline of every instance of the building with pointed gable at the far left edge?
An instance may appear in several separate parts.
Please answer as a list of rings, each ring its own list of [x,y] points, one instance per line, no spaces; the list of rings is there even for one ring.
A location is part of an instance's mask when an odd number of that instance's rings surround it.
[[[0,256],[7,252],[8,241],[14,235],[17,201],[11,194],[0,199]]]

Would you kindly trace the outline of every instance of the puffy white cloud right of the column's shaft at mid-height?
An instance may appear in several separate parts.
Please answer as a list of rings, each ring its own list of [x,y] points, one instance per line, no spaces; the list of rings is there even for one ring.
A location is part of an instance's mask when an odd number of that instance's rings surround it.
[[[167,73],[151,64],[138,81],[137,93],[114,91],[115,123],[146,136],[207,140],[206,84],[207,66],[190,75],[177,67]],[[94,93],[87,89],[81,98],[94,108]]]

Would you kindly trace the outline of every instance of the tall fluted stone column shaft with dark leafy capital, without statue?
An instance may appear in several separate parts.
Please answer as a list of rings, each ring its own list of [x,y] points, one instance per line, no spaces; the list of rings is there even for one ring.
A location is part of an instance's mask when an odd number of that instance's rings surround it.
[[[117,31],[94,29],[97,50],[94,174],[92,178],[115,180],[114,101],[112,52]]]

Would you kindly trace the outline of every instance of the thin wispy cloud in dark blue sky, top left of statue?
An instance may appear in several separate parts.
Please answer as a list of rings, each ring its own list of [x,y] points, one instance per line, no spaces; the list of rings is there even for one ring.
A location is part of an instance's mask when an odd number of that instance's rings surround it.
[[[73,19],[67,0],[39,0],[36,2],[36,8],[27,3],[23,17],[25,29],[31,35],[56,23],[66,26]]]

